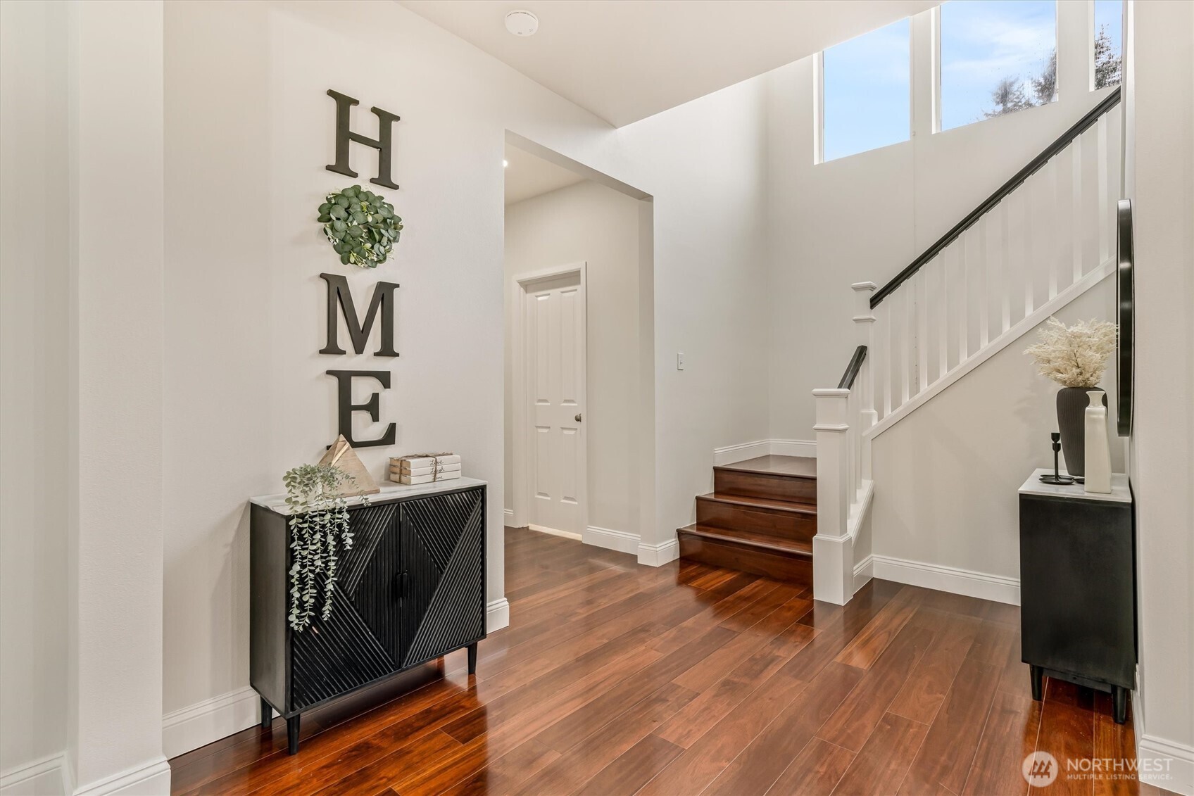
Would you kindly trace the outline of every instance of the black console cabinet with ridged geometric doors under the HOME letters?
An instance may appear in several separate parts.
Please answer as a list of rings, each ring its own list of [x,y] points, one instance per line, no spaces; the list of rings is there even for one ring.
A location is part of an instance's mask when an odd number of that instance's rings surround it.
[[[250,684],[287,720],[330,699],[468,647],[485,637],[485,486],[463,480],[383,487],[349,508],[352,548],[341,550],[332,615],[290,628],[290,531],[285,504],[254,499],[250,522]],[[406,494],[408,493],[408,494]],[[319,605],[322,604],[319,598]]]

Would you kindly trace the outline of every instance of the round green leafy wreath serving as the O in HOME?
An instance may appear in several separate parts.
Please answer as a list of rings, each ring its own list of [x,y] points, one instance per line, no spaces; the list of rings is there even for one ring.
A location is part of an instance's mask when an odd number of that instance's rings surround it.
[[[402,232],[394,205],[359,185],[328,193],[319,205],[319,222],[340,263],[362,269],[384,263]]]

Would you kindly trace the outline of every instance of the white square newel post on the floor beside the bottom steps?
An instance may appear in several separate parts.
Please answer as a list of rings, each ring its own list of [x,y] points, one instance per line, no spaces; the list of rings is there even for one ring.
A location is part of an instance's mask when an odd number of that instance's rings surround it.
[[[854,550],[845,519],[847,401],[850,390],[813,390],[817,399],[817,536],[813,537],[813,598],[845,605],[853,597]]]

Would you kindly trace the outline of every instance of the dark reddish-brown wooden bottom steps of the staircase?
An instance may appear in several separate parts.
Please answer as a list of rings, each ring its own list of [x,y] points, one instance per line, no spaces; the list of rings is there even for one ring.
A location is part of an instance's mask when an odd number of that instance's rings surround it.
[[[761,456],[713,468],[696,523],[676,532],[687,561],[811,585],[817,459]]]

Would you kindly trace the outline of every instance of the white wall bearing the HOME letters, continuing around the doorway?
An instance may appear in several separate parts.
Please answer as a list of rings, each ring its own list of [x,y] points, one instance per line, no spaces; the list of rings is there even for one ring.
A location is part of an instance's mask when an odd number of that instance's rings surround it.
[[[314,221],[351,181],[324,169],[332,87],[402,117],[402,187],[381,192],[406,229],[373,272],[340,266]],[[506,130],[654,197],[659,467],[642,541],[675,548],[712,449],[765,436],[762,112],[755,81],[613,130],[398,4],[167,6],[165,710],[183,746],[252,721],[246,499],[331,442],[330,368],[393,374],[398,444],[361,451],[376,477],[387,456],[436,448],[490,481],[488,599],[503,597]],[[375,158],[353,147],[352,161],[364,183]],[[399,359],[318,354],[321,271],[347,274],[358,307],[375,280],[401,284]],[[678,350],[682,374],[666,366]],[[196,712],[179,710],[222,697],[226,723],[186,732]]]

